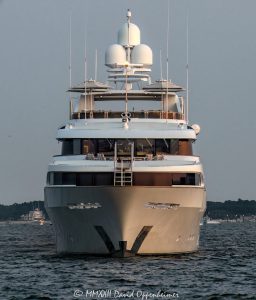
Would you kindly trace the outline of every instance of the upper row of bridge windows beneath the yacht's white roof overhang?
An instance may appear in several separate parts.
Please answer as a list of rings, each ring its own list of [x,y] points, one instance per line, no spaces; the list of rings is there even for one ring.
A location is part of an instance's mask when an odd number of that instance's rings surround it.
[[[147,154],[192,155],[192,141],[186,139],[65,139],[62,155],[102,153],[114,156],[115,144],[118,156],[146,156]]]

